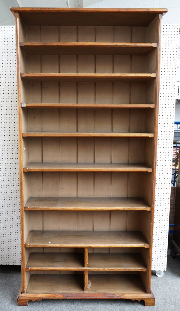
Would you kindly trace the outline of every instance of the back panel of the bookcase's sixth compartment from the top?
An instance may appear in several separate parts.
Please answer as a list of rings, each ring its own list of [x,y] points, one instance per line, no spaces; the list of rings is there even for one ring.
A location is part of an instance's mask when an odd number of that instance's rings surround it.
[[[26,194],[24,204],[28,197],[143,197],[151,205],[152,173],[30,172],[25,174],[28,177],[24,184],[24,194]]]

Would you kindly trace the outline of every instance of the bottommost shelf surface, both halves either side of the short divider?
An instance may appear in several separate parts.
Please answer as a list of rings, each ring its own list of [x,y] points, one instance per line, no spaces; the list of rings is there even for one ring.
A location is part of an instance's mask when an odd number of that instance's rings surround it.
[[[91,274],[89,279],[92,287],[88,288],[88,293],[91,294],[117,293],[122,295],[124,293],[134,293],[137,295],[137,293],[146,293],[140,277],[134,274]],[[84,294],[83,276],[80,274],[32,274],[26,293]],[[71,298],[73,297],[71,296]]]

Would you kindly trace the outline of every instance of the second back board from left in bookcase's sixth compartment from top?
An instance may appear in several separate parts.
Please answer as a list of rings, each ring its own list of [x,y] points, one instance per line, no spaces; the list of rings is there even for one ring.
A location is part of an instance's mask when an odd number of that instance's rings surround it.
[[[60,195],[60,179],[59,173],[46,172],[43,173],[43,197],[59,197]]]

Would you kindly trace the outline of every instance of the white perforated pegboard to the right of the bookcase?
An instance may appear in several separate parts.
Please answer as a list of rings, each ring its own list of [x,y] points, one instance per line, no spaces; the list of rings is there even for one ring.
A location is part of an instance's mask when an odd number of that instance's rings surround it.
[[[152,270],[166,270],[178,60],[178,24],[163,24]]]

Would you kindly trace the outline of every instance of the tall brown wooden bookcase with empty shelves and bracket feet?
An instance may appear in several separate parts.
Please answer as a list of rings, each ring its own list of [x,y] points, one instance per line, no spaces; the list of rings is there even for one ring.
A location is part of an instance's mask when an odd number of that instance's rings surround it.
[[[160,27],[167,10],[11,11],[21,189],[17,302],[154,305]]]

